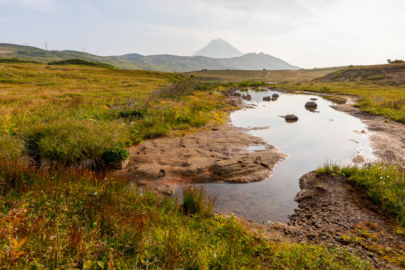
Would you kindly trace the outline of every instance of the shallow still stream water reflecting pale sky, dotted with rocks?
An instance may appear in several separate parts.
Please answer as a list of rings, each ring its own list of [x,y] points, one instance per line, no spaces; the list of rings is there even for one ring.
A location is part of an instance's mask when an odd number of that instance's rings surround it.
[[[209,193],[218,196],[217,212],[232,212],[259,224],[286,222],[288,215],[297,208],[294,197],[300,191],[299,179],[302,175],[327,160],[350,164],[358,152],[366,158],[372,157],[366,136],[354,132],[366,130],[365,125],[359,119],[330,107],[341,104],[341,98],[252,89],[240,93],[252,95],[252,99],[245,102],[258,106],[231,113],[232,124],[243,128],[269,126],[264,130],[251,130],[250,134],[264,138],[290,158],[277,165],[273,175],[264,181],[205,184]],[[276,101],[263,101],[263,97],[274,93],[279,95]],[[315,101],[317,112],[305,108],[310,98],[318,99]],[[299,120],[287,123],[278,116],[286,114],[295,114]],[[253,146],[250,150],[260,149],[263,146]]]

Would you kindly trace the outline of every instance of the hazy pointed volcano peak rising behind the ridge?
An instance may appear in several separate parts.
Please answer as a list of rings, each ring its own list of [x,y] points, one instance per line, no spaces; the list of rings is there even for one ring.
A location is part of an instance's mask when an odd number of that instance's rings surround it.
[[[239,52],[236,48],[232,45],[227,43],[226,41],[218,40],[211,41],[206,47],[201,50],[198,50],[192,56],[206,56],[211,58],[232,58],[232,57],[240,57],[244,55],[243,53]]]

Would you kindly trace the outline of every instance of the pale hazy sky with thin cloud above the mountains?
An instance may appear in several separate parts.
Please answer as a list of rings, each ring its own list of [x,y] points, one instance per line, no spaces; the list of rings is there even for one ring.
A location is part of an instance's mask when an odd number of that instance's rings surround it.
[[[0,43],[187,56],[216,38],[303,68],[405,60],[405,1],[0,0]]]

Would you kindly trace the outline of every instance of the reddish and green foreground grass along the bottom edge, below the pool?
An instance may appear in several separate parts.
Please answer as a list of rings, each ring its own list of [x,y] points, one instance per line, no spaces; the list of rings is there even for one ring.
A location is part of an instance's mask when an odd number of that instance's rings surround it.
[[[185,190],[201,207],[184,211],[84,170],[14,160],[0,162],[0,179],[2,269],[370,269],[345,249],[257,239],[232,215],[210,215],[201,189]]]

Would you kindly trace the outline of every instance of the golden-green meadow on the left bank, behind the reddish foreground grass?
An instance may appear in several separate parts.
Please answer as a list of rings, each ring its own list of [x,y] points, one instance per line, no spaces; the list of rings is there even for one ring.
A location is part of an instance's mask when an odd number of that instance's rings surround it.
[[[184,76],[0,64],[0,155],[93,166],[111,146],[206,124],[221,95],[210,86],[176,99],[152,93],[176,80]]]

